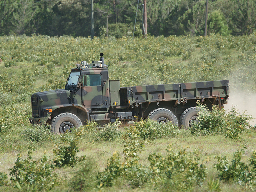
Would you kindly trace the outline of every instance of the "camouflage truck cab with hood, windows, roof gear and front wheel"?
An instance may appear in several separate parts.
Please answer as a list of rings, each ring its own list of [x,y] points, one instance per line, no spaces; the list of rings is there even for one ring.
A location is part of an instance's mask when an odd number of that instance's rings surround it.
[[[99,126],[114,122],[116,113],[112,106],[120,104],[119,89],[119,80],[109,81],[102,53],[100,61],[82,61],[71,69],[64,89],[34,93],[30,123],[49,123],[52,132],[64,133],[89,121],[96,121]],[[133,123],[132,112],[122,115],[124,123]]]

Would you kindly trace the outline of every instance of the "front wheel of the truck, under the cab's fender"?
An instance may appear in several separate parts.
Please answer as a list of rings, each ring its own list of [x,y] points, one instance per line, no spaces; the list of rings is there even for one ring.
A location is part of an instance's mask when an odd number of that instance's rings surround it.
[[[61,134],[82,126],[81,120],[72,113],[61,113],[52,120],[51,132]]]

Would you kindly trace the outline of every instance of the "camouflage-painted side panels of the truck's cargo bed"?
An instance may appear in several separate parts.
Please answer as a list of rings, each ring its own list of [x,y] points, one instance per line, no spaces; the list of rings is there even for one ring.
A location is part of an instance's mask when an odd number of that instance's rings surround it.
[[[229,94],[228,85],[228,80],[222,80],[129,87],[132,91],[130,104],[135,102],[185,101],[198,98],[226,97]]]

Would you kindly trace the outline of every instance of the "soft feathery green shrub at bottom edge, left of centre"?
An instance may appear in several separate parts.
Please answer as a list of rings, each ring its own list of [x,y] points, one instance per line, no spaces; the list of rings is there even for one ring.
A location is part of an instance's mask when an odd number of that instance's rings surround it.
[[[70,186],[74,191],[92,191],[96,187],[96,164],[92,159],[86,158],[78,165],[79,169],[73,172]]]

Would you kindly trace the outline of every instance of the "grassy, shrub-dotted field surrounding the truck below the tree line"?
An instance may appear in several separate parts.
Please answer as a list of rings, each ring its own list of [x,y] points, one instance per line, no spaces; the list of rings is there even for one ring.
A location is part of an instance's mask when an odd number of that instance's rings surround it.
[[[255,33],[239,37],[160,36],[134,41],[129,38],[95,38],[91,41],[89,38],[69,36],[0,37],[0,173],[6,173],[8,176],[8,179],[4,180],[0,174],[0,191],[27,190],[28,186],[21,186],[19,189],[15,182],[10,182],[9,169],[15,165],[18,154],[22,155],[22,159],[27,158],[28,146],[36,148],[31,155],[34,159],[42,158],[45,154],[49,156],[50,163],[55,158],[53,149],[62,142],[61,136],[49,134],[47,128],[40,129],[29,124],[31,94],[63,88],[66,75],[75,67],[77,60],[99,60],[100,52],[104,53],[110,78],[120,79],[121,86],[229,79],[231,92],[226,108],[236,104],[240,108],[239,104],[242,103],[243,110],[247,109],[248,114],[256,117],[253,106],[256,92]],[[251,123],[251,126],[255,126],[255,123]],[[87,178],[86,182],[90,186],[84,187],[83,190],[166,191],[168,183],[164,180],[158,181],[158,184],[148,181],[135,188],[125,175],[114,179],[112,187],[100,186],[96,182],[96,175],[98,172],[104,172],[108,166],[107,160],[114,152],[117,151],[121,163],[124,162],[123,150],[126,141],[122,136],[127,130],[120,128],[119,131],[120,135],[113,141],[97,140],[98,136],[94,131],[85,132],[77,141],[79,152],[76,156],[86,155],[84,164],[93,167],[93,170],[87,170],[86,173],[94,176],[94,179]],[[166,149],[170,148],[170,144],[177,153],[189,146],[186,151],[192,153],[196,149],[200,158],[198,164],[203,164],[207,169],[205,179],[200,185],[191,185],[191,188],[183,189],[214,191],[211,189],[214,185],[210,181],[213,179],[214,184],[217,184],[220,179],[220,171],[214,168],[214,164],[217,163],[216,157],[227,156],[231,163],[233,153],[245,145],[247,148],[244,149],[241,162],[248,165],[255,150],[255,136],[255,130],[250,128],[244,130],[239,139],[226,138],[223,134],[191,135],[189,130],[180,130],[175,135],[156,139],[138,138],[138,141],[146,143],[142,152],[138,153],[139,161],[136,166],[144,166],[150,170],[150,155],[160,152],[162,156],[167,156]],[[75,138],[75,134],[70,134],[70,137]],[[82,164],[83,161],[74,167],[55,167],[52,173],[57,174],[58,182],[49,190],[74,191],[74,180],[76,175],[79,175],[78,171],[82,169]],[[252,170],[250,168],[251,172]],[[184,191],[179,187],[181,181],[178,176],[174,179],[178,187],[173,187],[172,190]],[[219,188],[221,191],[250,191],[249,184],[238,183],[232,179],[220,180]],[[46,187],[44,189],[47,190]],[[33,191],[31,186],[29,190]],[[218,191],[217,187],[215,191]]]

